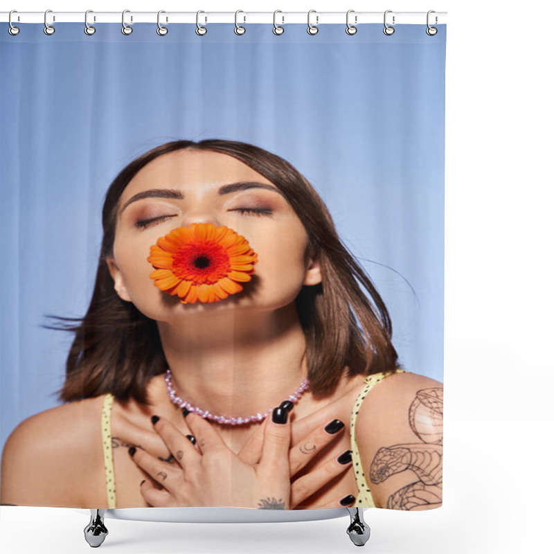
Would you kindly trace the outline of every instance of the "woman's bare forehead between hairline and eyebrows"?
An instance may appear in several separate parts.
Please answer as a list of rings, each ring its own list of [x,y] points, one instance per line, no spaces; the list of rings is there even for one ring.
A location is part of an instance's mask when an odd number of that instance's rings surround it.
[[[210,151],[177,150],[163,154],[144,166],[129,181],[121,200],[141,190],[164,188],[210,189],[233,181],[271,181],[246,163],[227,154]]]

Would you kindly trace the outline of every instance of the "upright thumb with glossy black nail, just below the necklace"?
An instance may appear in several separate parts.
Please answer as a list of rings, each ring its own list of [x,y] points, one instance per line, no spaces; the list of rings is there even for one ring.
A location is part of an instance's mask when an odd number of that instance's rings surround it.
[[[290,420],[288,415],[289,410],[277,407],[267,418],[259,464],[259,469],[264,474],[275,477],[276,481],[286,479],[287,483],[290,482]]]

